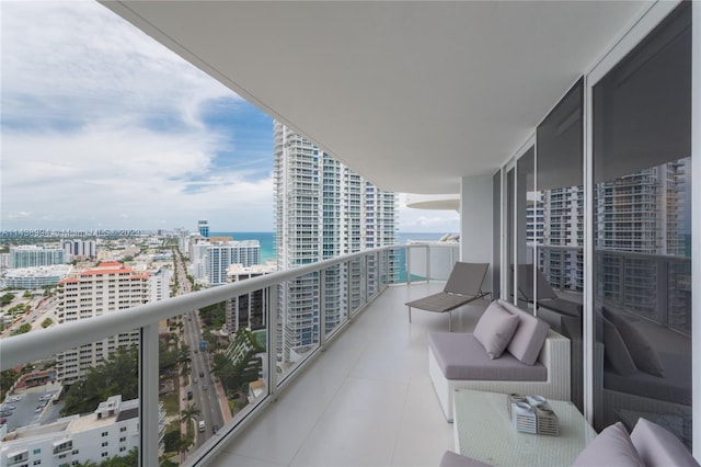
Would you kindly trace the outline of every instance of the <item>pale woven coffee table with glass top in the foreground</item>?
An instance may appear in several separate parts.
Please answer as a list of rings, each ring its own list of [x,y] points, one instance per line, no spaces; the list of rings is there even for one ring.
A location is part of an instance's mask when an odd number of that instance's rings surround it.
[[[560,426],[559,436],[548,436],[516,431],[504,394],[458,389],[455,396],[456,451],[494,466],[568,466],[596,437],[568,401],[548,400]]]

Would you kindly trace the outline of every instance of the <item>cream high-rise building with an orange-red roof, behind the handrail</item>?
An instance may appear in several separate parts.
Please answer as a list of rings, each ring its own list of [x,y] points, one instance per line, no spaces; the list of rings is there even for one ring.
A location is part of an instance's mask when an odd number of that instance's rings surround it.
[[[118,312],[146,304],[151,287],[166,275],[134,271],[118,262],[101,263],[97,267],[71,274],[59,283],[58,323]],[[97,366],[118,346],[139,343],[139,332],[126,332],[62,352],[56,357],[56,377],[61,384],[81,378],[88,368]]]

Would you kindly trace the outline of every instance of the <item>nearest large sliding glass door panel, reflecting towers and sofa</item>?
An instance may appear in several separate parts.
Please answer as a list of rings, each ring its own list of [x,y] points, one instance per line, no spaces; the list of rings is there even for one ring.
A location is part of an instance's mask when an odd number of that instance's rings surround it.
[[[595,425],[691,447],[691,3],[593,88]]]

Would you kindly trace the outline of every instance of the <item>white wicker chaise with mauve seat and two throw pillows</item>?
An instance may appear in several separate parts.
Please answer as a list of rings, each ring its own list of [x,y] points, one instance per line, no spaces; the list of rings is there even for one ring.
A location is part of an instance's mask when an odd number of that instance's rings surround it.
[[[545,321],[495,300],[473,333],[428,335],[428,373],[448,422],[456,389],[570,400],[570,340]]]

